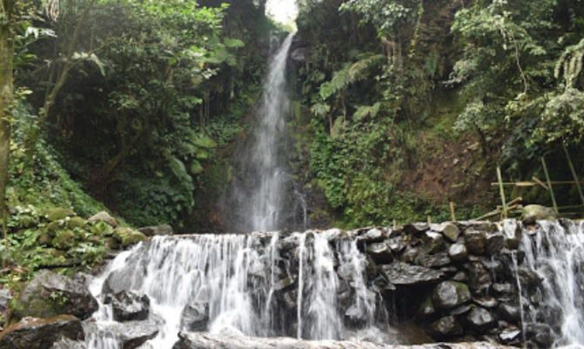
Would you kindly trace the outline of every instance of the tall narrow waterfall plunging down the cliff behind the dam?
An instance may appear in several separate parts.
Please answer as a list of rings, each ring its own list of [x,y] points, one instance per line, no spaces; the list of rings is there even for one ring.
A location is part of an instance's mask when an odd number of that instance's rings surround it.
[[[224,207],[237,231],[281,229],[284,222],[294,219],[290,212],[298,211],[295,206],[304,211],[304,198],[294,190],[286,167],[286,117],[290,112],[286,65],[293,37],[288,34],[272,56],[251,137],[241,145],[235,160],[234,182]]]

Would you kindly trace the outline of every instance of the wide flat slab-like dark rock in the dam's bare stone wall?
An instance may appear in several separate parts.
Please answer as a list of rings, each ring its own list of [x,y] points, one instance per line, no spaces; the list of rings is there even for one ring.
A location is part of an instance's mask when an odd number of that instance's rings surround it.
[[[381,273],[394,285],[423,285],[439,282],[444,273],[426,267],[395,262],[381,266]]]

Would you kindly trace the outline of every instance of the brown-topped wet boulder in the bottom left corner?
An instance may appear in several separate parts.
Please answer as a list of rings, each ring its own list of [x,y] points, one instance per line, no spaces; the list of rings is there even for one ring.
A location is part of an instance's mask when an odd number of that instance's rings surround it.
[[[84,340],[81,321],[72,315],[25,317],[0,333],[0,349],[50,349],[61,337]]]

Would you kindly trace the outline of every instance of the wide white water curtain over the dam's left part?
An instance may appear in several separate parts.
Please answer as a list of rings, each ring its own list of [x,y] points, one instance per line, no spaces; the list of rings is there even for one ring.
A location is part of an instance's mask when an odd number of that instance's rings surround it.
[[[86,345],[123,347],[126,325],[106,303],[117,292],[150,299],[147,321],[156,335],[148,348],[171,348],[192,326],[193,308],[202,315],[199,330],[215,334],[352,339],[356,331],[387,326],[376,319],[366,256],[355,238],[339,236],[332,230],[156,237],[117,256],[92,282],[100,309],[86,325]]]

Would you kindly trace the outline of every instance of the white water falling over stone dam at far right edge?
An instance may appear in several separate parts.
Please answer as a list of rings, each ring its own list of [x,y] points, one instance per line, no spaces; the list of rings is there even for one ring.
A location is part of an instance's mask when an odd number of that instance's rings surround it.
[[[584,222],[539,222],[535,231],[525,231],[522,249],[524,267],[517,268],[522,292],[525,332],[548,336],[556,333],[554,346],[584,345]],[[535,273],[541,282],[533,287]],[[530,336],[528,336],[530,337]]]

